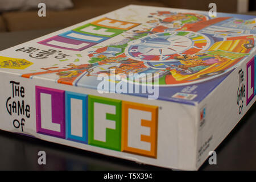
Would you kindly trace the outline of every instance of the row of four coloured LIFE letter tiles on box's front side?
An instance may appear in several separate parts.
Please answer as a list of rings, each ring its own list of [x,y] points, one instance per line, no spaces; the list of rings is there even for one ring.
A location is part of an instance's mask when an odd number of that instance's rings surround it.
[[[42,86],[35,90],[37,133],[156,158],[158,106]]]

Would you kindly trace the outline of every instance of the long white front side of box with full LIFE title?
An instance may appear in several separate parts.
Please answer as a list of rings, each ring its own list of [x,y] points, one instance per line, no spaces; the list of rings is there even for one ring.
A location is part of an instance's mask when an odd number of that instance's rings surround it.
[[[0,72],[0,129],[167,168],[195,169],[196,107]]]

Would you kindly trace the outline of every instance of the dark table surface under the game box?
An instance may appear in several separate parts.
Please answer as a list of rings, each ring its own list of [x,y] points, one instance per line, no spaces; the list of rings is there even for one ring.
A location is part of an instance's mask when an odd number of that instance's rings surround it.
[[[0,51],[57,31],[0,33]],[[200,170],[256,170],[256,104],[215,150],[217,164],[205,161]],[[0,130],[0,170],[166,170]],[[38,164],[46,151],[47,164]]]

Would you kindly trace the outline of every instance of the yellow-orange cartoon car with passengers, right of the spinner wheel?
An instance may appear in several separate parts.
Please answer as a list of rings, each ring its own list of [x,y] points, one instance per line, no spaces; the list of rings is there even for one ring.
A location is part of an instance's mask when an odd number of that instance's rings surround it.
[[[196,59],[185,59],[180,62],[188,68],[192,74],[184,75],[179,70],[172,69],[170,72],[177,80],[198,80],[200,78],[220,75],[227,69],[232,68],[243,57],[247,56],[251,48],[254,47],[254,39],[252,36],[240,36],[234,38],[227,38],[226,40],[214,43],[208,51],[204,53],[196,53]],[[181,57],[180,57],[181,58]],[[196,63],[204,63],[196,67]],[[208,66],[207,66],[208,65]]]

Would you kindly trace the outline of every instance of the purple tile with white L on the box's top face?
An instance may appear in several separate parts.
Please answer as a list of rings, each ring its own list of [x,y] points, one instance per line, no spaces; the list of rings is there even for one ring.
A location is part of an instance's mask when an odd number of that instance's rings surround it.
[[[64,38],[62,36],[53,36],[52,38],[38,42],[44,46],[51,46],[60,49],[67,49],[72,51],[82,51],[86,48],[94,46],[96,43],[85,42],[81,40]]]

